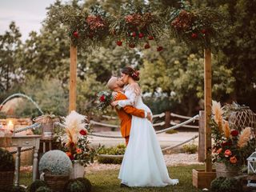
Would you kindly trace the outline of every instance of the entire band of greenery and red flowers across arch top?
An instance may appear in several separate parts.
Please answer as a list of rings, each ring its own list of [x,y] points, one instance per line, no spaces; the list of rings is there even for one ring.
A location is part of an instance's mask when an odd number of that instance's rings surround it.
[[[149,49],[152,41],[158,45],[161,38],[168,36],[186,42],[189,47],[210,48],[222,41],[220,37],[226,26],[223,24],[226,18],[219,10],[197,10],[184,1],[180,2],[178,9],[162,12],[153,10],[144,2],[131,0],[122,5],[118,16],[107,13],[100,6],[87,11],[77,4],[56,3],[48,12],[46,22],[61,23],[68,31],[71,43],[86,50],[102,46],[107,38],[113,39],[117,46]],[[157,50],[162,49],[158,45]]]

